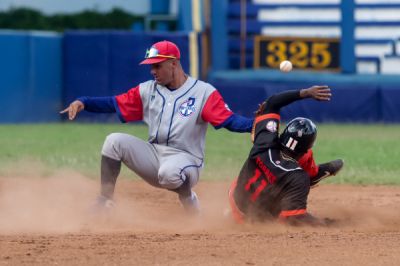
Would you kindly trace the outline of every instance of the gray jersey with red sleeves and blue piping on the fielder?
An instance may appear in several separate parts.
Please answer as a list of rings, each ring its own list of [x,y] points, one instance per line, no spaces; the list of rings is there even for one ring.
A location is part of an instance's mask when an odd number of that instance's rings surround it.
[[[208,123],[222,124],[233,113],[210,84],[188,77],[177,90],[147,81],[115,96],[123,122],[143,120],[150,143],[170,146],[203,159]]]

